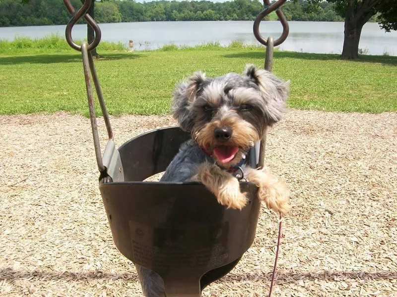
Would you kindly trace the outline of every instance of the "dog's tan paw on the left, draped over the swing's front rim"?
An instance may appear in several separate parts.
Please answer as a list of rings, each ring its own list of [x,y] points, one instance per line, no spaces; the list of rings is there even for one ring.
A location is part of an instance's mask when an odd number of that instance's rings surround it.
[[[246,193],[240,192],[240,184],[237,179],[230,179],[222,185],[217,193],[218,202],[228,208],[242,209],[247,204]]]

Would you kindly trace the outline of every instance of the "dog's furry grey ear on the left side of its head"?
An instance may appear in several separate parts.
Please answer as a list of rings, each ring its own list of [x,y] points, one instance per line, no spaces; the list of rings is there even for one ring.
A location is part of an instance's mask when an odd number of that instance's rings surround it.
[[[193,118],[189,106],[195,101],[204,79],[205,74],[197,71],[186,81],[177,84],[174,91],[172,113],[178,120],[179,126],[187,132],[191,132],[193,128]]]

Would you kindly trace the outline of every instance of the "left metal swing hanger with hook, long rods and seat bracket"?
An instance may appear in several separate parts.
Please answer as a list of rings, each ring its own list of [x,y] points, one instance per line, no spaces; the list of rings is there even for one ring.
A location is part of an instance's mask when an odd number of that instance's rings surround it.
[[[99,84],[98,75],[96,73],[94,59],[91,54],[91,50],[95,49],[101,41],[101,30],[98,24],[92,19],[92,17],[89,14],[87,14],[87,11],[91,6],[92,1],[93,0],[85,0],[84,4],[80,7],[80,9],[77,10],[77,12],[75,12],[70,1],[64,0],[64,4],[67,10],[69,11],[70,14],[73,15],[66,25],[65,36],[67,43],[72,49],[81,51],[92,136],[94,140],[95,156],[98,165],[98,170],[101,174],[100,179],[105,178],[107,182],[112,180],[122,181],[124,179],[123,166],[121,164],[119,152],[116,149],[116,146],[113,142],[113,130],[110,124],[109,114],[106,108],[105,100],[103,99],[102,89]],[[73,41],[71,36],[71,31],[73,29],[73,26],[82,17],[85,18],[89,26],[94,30],[95,38],[92,43],[88,44],[87,42],[83,42],[81,46],[79,46]],[[94,94],[91,84],[91,75],[92,75],[92,81],[94,82],[95,91],[98,96],[99,104],[101,106],[101,111],[108,134],[108,143],[106,144],[103,156],[101,154],[101,146],[99,142],[98,125],[95,115]]]

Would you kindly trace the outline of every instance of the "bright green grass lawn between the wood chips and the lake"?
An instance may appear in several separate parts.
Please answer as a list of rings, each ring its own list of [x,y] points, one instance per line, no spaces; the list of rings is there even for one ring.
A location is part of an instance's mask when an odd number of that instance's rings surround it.
[[[0,114],[66,110],[87,115],[79,53],[26,52],[0,54]],[[241,73],[246,63],[263,67],[264,61],[264,50],[258,48],[100,54],[104,59],[95,63],[109,113],[114,115],[168,113],[175,83],[193,71],[201,69],[207,76]],[[345,61],[332,54],[277,51],[273,71],[291,81],[291,108],[379,113],[397,111],[396,65],[397,57],[391,56]]]

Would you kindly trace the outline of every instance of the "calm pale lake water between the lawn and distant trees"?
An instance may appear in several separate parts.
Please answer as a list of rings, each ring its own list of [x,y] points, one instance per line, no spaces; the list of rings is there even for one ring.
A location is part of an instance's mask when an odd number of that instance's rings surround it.
[[[13,40],[15,36],[40,38],[51,33],[61,36],[66,26],[31,26],[0,28],[0,39]],[[122,42],[133,40],[134,48],[157,49],[163,45],[197,45],[218,41],[228,45],[233,40],[258,43],[253,35],[252,21],[209,22],[140,22],[100,24],[102,40]],[[343,22],[289,22],[290,34],[278,48],[282,50],[341,53],[343,46]],[[278,21],[262,22],[260,31],[264,37],[278,38],[282,26]],[[73,28],[74,39],[86,36],[86,25]],[[386,33],[377,23],[364,25],[360,49],[367,54],[397,55],[397,32]]]

